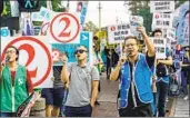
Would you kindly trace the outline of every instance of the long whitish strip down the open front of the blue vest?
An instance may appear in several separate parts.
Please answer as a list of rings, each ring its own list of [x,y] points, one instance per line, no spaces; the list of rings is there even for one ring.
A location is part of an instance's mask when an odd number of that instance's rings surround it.
[[[137,101],[136,101],[136,88],[134,88],[134,65],[132,65],[132,81],[131,81],[131,90],[132,90],[132,101],[134,105],[134,108],[137,107]]]

